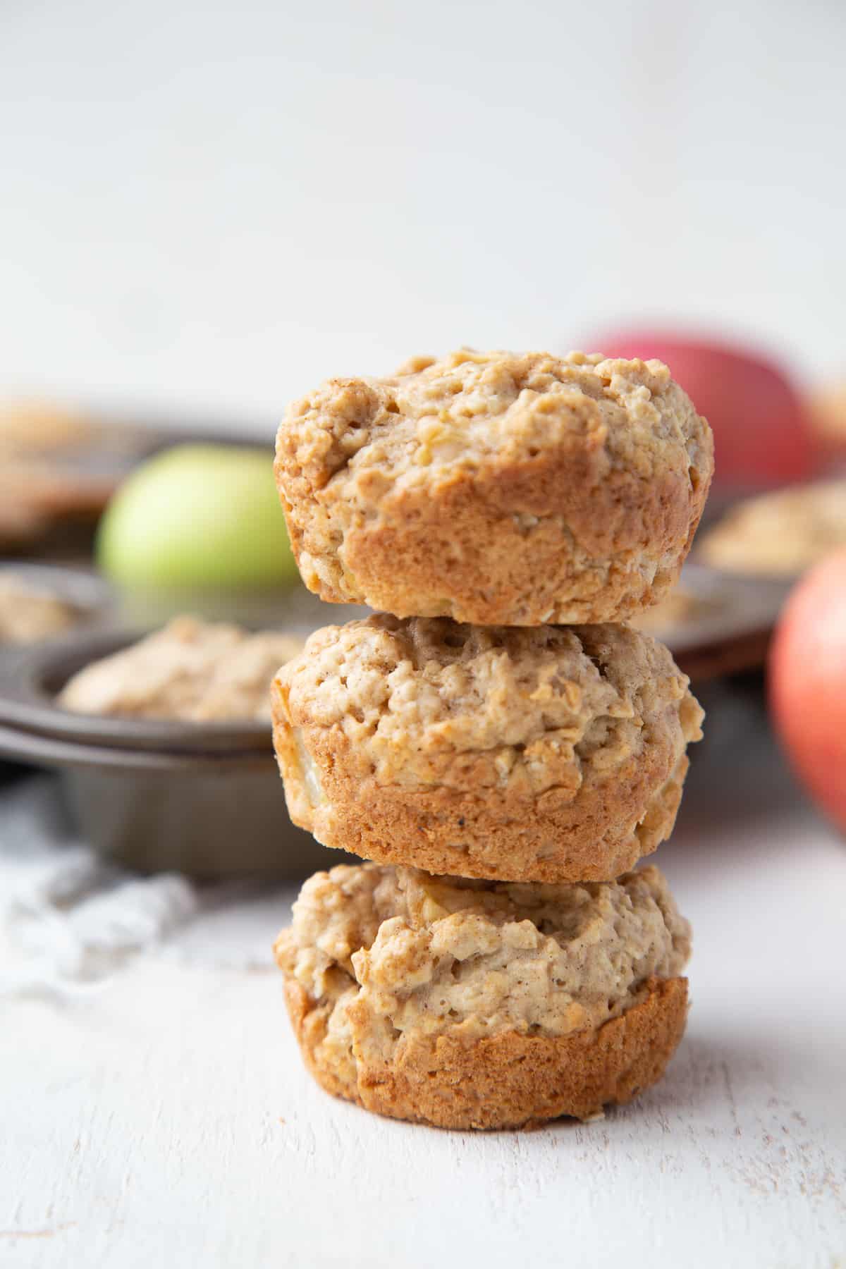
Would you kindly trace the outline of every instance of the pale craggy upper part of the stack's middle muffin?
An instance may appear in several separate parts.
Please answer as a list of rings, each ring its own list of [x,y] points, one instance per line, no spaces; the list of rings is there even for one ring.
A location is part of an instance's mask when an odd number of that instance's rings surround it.
[[[317,631],[279,680],[294,727],[341,728],[384,784],[464,788],[472,760],[476,788],[575,794],[646,745],[679,756],[701,735],[667,648],[627,626],[379,614]]]

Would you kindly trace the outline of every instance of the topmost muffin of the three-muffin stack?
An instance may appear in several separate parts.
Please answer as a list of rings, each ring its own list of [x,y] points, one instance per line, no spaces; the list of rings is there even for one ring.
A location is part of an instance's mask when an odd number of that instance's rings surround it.
[[[661,362],[462,349],[296,401],[275,472],[321,599],[478,626],[615,622],[676,581],[713,439]]]

